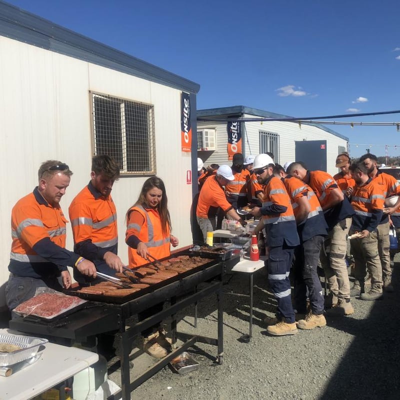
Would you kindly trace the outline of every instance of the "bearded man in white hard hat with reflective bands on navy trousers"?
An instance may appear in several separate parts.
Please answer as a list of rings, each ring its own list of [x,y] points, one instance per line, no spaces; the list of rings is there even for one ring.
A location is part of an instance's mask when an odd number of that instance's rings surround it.
[[[291,304],[289,271],[294,247],[299,244],[299,239],[290,197],[282,180],[273,175],[274,165],[267,154],[258,154],[254,158],[254,173],[258,182],[264,184],[264,197],[262,206],[252,208],[251,214],[262,215],[254,233],[257,234],[265,227],[266,245],[269,247],[266,261],[268,280],[278,305],[278,322],[268,326],[266,330],[271,335],[281,336],[297,333]]]

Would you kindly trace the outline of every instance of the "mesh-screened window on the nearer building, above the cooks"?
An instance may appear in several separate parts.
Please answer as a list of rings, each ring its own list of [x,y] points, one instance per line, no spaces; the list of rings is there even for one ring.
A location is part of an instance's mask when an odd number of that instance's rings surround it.
[[[121,174],[155,173],[154,106],[90,93],[94,154],[108,154]]]

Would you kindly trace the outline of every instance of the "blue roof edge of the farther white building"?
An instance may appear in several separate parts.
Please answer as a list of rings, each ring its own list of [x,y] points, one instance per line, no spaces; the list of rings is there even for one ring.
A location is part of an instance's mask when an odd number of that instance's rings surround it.
[[[251,107],[246,107],[244,105],[233,105],[230,107],[218,107],[218,108],[207,108],[207,109],[198,109],[196,111],[197,118],[205,117],[205,116],[217,116],[217,115],[226,115],[226,114],[249,114],[249,115],[254,115],[254,116],[259,116],[259,117],[264,117],[264,118],[293,118],[292,116],[289,115],[284,115],[284,114],[278,114],[276,112],[270,112],[270,111],[265,111],[262,109],[257,109],[257,108],[251,108]],[[287,122],[293,122],[297,123],[294,121],[287,121]],[[312,125],[316,126],[322,130],[325,130],[328,133],[331,133],[337,137],[340,137],[343,140],[348,141],[348,137],[334,131],[333,129],[327,128],[325,125],[322,125],[317,122],[301,122],[302,125]]]

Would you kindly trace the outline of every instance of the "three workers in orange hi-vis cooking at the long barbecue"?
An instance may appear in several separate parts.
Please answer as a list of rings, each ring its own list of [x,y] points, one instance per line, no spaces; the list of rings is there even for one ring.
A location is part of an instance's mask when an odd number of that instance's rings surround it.
[[[36,288],[68,289],[72,280],[67,266],[73,266],[74,279],[89,284],[96,272],[109,275],[122,272],[117,255],[116,208],[110,195],[119,178],[119,165],[108,155],[92,158],[90,181],[69,206],[73,251],[65,248],[66,222],[59,202],[69,185],[72,171],[61,161],[47,160],[38,170],[38,185],[19,199],[11,211],[11,253],[5,297],[12,310],[35,295]],[[148,262],[148,254],[164,258],[178,239],[171,234],[171,220],[163,181],[152,176],[145,180],[136,202],[126,213],[125,242],[129,267]],[[58,280],[62,282],[62,286]],[[143,320],[162,309],[162,303],[138,315]],[[143,350],[164,357],[170,341],[159,324],[142,332]]]

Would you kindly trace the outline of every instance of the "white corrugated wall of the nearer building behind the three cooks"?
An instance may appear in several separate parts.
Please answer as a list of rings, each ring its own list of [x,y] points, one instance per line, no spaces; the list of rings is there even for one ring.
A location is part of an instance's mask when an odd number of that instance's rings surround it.
[[[46,159],[66,162],[74,172],[61,207],[67,215],[76,193],[89,181],[91,165],[89,90],[154,105],[156,170],[166,186],[173,233],[191,243],[191,154],[180,151],[180,91],[0,36],[0,307],[11,243],[14,203],[37,185]],[[124,215],[146,177],[121,177],[112,196],[118,213],[119,255],[127,262]],[[68,224],[67,246],[72,249]]]

